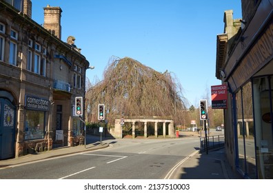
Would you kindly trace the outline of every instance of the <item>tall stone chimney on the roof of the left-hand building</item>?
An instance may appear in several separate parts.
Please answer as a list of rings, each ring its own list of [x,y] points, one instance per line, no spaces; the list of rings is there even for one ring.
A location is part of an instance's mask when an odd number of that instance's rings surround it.
[[[61,39],[61,8],[50,7],[49,5],[44,10],[43,28],[49,30],[52,35]]]

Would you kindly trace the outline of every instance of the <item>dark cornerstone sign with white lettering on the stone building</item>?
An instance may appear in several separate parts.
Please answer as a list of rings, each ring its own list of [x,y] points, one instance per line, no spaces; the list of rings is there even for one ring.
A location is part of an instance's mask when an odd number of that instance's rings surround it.
[[[50,101],[47,99],[42,99],[36,96],[30,96],[26,94],[26,109],[27,110],[40,110],[48,111],[50,107]]]

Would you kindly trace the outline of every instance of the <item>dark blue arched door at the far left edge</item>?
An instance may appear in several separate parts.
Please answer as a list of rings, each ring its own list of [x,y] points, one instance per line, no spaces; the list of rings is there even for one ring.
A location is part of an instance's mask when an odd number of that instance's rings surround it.
[[[15,106],[0,98],[0,160],[14,156],[15,113]]]

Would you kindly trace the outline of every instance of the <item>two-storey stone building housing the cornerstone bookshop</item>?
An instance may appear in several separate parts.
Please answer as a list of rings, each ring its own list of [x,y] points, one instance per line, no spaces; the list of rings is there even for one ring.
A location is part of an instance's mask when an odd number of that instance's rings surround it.
[[[30,0],[0,1],[0,159],[83,141],[75,96],[85,96],[89,62],[61,41],[61,8],[31,19]]]

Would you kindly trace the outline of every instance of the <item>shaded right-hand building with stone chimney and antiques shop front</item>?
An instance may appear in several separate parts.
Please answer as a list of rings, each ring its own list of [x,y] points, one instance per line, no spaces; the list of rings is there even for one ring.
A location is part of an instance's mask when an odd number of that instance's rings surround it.
[[[273,179],[273,1],[242,0],[242,19],[224,13],[216,78],[228,85],[225,150],[249,179]]]

